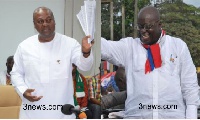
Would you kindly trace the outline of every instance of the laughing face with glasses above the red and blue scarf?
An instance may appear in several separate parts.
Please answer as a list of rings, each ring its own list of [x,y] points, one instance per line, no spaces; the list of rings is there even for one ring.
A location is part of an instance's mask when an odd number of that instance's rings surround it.
[[[152,45],[160,38],[160,21],[148,17],[138,18],[138,32],[142,43],[146,45]]]

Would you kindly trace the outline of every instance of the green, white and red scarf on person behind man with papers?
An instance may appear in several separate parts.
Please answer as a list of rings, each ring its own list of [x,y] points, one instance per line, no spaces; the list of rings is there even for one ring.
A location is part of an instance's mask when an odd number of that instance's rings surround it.
[[[74,90],[74,104],[76,106],[78,105],[77,98],[85,96],[84,83],[78,70],[76,70],[76,82],[74,85],[74,89],[75,89]]]

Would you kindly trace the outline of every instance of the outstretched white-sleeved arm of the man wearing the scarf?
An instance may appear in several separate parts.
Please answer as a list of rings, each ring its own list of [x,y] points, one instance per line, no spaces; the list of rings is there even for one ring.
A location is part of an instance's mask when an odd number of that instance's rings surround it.
[[[124,66],[126,48],[124,40],[108,41],[101,38],[101,59],[117,66]]]

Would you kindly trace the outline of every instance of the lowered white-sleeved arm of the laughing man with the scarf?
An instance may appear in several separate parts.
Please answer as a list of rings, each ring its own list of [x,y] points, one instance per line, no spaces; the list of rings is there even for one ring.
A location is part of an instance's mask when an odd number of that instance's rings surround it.
[[[186,118],[197,118],[199,86],[196,68],[186,45],[181,54],[181,89],[186,103]]]

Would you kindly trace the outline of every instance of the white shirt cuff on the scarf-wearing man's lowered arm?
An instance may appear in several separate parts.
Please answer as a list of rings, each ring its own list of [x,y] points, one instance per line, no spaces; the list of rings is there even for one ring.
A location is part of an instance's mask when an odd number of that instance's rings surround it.
[[[186,107],[186,119],[197,119],[197,106],[187,105]]]

